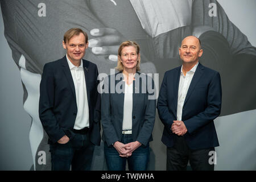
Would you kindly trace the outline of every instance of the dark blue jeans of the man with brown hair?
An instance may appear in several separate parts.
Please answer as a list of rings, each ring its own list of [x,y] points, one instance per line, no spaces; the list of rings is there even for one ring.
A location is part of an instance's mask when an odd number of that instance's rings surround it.
[[[94,144],[89,132],[76,133],[68,143],[50,144],[52,171],[89,171],[92,166]]]

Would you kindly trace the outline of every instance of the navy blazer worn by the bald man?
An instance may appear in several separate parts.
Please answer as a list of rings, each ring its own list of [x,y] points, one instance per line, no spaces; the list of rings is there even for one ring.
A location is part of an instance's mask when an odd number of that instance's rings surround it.
[[[158,114],[164,125],[162,142],[167,147],[174,146],[171,126],[177,120],[180,69],[181,66],[164,73],[158,97]],[[220,74],[199,63],[182,111],[182,121],[188,130],[184,138],[192,150],[219,146],[213,119],[220,115],[221,94]]]

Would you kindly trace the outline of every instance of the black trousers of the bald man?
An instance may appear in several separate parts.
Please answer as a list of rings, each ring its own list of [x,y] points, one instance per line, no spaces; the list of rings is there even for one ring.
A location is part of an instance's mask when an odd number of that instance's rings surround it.
[[[175,136],[174,147],[167,147],[167,171],[186,171],[188,161],[192,170],[195,171],[213,171],[214,164],[209,164],[209,152],[213,148],[200,150],[191,150],[184,137]]]

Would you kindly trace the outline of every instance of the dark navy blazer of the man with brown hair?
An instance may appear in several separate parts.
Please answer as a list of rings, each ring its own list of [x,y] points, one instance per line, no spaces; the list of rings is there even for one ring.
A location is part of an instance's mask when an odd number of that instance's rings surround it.
[[[82,60],[89,106],[90,141],[100,145],[100,93],[96,64]],[[39,118],[49,136],[48,143],[56,143],[67,135],[74,137],[72,129],[77,114],[76,93],[67,58],[44,65],[40,82]]]

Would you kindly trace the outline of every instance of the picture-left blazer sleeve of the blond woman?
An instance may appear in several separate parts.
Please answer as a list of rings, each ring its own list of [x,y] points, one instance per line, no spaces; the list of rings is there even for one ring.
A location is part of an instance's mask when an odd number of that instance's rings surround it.
[[[108,144],[108,146],[118,141],[117,133],[115,133],[115,129],[112,123],[109,84],[109,77],[105,77],[103,90],[106,92],[101,94],[101,123],[105,142]]]

